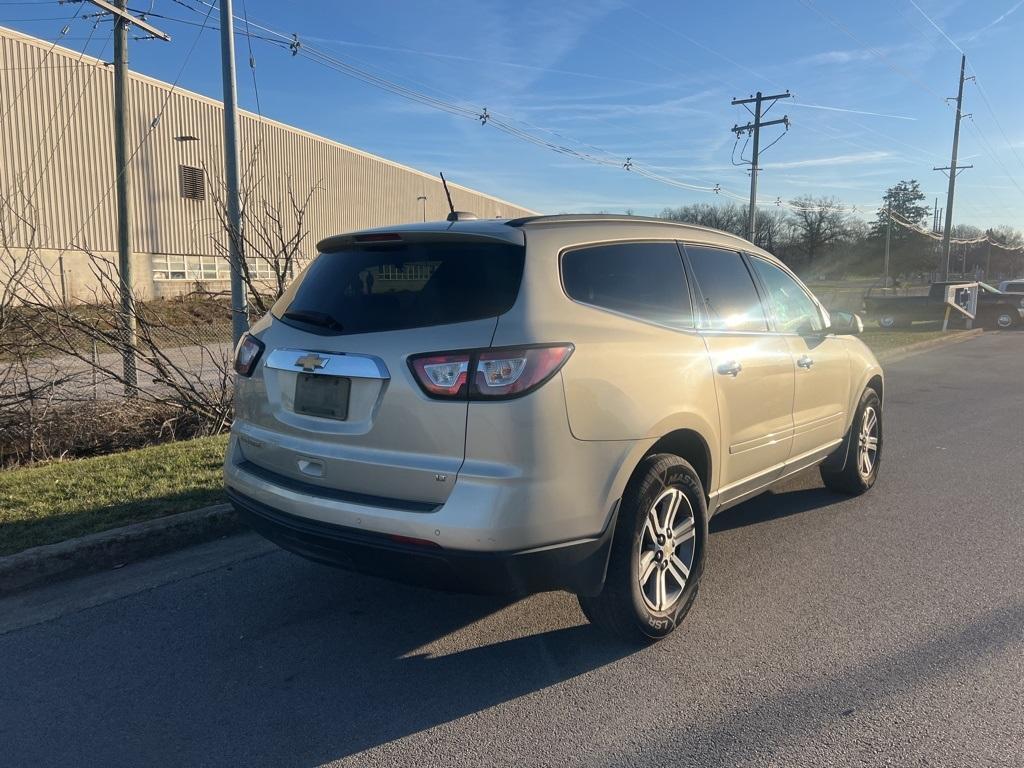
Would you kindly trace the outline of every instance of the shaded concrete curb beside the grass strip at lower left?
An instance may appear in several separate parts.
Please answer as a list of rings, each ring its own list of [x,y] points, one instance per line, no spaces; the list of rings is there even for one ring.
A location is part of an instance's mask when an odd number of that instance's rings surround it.
[[[240,530],[229,504],[179,512],[0,557],[0,597],[200,544]]]

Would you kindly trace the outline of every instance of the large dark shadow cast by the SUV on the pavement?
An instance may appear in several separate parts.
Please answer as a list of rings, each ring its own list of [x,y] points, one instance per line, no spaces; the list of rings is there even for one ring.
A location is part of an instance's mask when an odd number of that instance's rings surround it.
[[[637,650],[580,624],[563,593],[433,593],[278,551],[208,573],[202,592],[147,594],[97,608],[109,615],[72,654],[48,650],[45,626],[16,633],[29,651],[0,637],[19,658],[0,689],[7,764],[321,765]]]

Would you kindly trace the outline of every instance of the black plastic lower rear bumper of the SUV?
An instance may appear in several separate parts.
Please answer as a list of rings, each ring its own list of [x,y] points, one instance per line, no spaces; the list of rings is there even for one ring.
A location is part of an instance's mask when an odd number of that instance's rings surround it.
[[[239,514],[278,546],[310,560],[434,589],[524,595],[566,590],[594,595],[604,584],[612,514],[600,536],[513,552],[445,549],[299,517],[227,487]]]

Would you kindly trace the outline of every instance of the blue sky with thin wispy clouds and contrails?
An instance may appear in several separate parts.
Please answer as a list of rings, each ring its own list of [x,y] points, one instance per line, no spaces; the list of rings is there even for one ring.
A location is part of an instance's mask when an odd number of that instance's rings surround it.
[[[772,111],[793,126],[762,158],[760,199],[831,196],[872,209],[887,186],[916,178],[944,206],[946,180],[932,167],[949,162],[953,114],[942,99],[955,95],[959,47],[980,88],[965,90],[974,122],[963,124],[961,163],[975,167],[959,177],[955,221],[1024,228],[1024,0],[915,2],[236,0],[234,10],[306,46],[292,56],[252,41],[264,115],[545,212],[716,200],[680,183],[745,196],[729,128],[749,116],[729,101],[757,89],[795,94]],[[131,66],[173,80],[186,61],[181,86],[219,97],[218,37],[197,26],[207,6],[182,3],[191,8],[130,1],[188,22],[152,18],[174,39],[133,42]],[[0,1],[0,23],[52,40],[54,19],[75,9]],[[45,20],[17,20],[30,18]],[[67,45],[81,49],[90,27],[76,20]],[[108,30],[89,53],[100,55]],[[374,88],[312,60],[314,49],[607,164]],[[240,100],[254,110],[244,38],[238,53]],[[627,158],[675,185],[624,170]]]

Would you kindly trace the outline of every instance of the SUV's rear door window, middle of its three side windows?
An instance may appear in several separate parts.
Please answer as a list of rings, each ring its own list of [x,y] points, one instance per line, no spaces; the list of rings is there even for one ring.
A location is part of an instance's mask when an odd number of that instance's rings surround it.
[[[754,279],[736,251],[686,246],[703,304],[703,325],[719,331],[767,331]],[[696,292],[694,292],[696,293]]]

